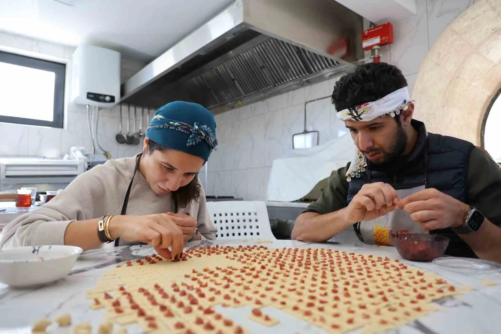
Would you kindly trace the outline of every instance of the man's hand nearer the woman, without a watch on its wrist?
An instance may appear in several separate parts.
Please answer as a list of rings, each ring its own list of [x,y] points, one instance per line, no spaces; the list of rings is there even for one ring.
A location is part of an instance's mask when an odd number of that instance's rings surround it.
[[[393,211],[398,201],[392,186],[382,182],[365,184],[346,208],[347,220],[354,224],[376,219]]]

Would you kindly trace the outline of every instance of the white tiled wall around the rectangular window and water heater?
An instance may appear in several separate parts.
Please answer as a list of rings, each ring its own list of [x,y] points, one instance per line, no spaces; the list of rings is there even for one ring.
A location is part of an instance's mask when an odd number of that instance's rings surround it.
[[[66,62],[65,96],[68,100],[71,87],[71,57],[75,48],[6,33],[0,33],[0,48],[5,51],[18,51],[31,56]],[[143,66],[144,64],[139,62],[122,60],[122,81],[131,77]],[[90,152],[92,145],[86,112],[85,106],[67,102],[63,129],[0,123],[0,133],[3,137],[5,136],[4,138],[9,138],[9,140],[0,140],[0,155],[61,157],[65,153],[69,153],[71,146],[84,146]],[[126,113],[123,117],[126,117]],[[114,158],[130,156],[139,152],[142,148],[141,145],[129,146],[116,142],[115,134],[118,132],[118,120],[118,107],[100,111],[99,143]],[[139,124],[139,120],[137,124]],[[126,130],[126,123],[124,122],[123,125],[124,130]],[[99,152],[98,149],[97,152]]]

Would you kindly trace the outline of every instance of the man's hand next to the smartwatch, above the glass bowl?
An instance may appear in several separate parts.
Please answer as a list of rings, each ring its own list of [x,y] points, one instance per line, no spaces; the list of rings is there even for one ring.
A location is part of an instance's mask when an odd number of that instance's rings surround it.
[[[426,231],[459,227],[470,210],[467,204],[431,188],[400,200],[396,206]]]

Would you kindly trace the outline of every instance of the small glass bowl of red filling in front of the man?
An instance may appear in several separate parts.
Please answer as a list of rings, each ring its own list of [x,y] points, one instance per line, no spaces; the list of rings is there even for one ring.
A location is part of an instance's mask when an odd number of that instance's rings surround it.
[[[418,262],[442,257],[449,244],[449,238],[436,234],[397,233],[393,240],[401,257]]]

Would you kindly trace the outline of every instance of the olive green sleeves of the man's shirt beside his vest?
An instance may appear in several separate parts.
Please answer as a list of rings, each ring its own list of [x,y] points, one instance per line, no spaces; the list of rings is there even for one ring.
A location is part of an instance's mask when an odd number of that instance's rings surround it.
[[[341,210],[348,206],[348,181],[346,171],[350,163],[333,172],[327,188],[320,198],[304,212],[321,215]],[[468,162],[467,198],[491,223],[501,225],[501,169],[478,147],[471,151]]]

